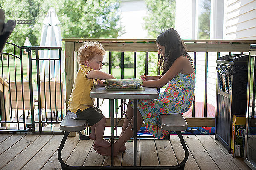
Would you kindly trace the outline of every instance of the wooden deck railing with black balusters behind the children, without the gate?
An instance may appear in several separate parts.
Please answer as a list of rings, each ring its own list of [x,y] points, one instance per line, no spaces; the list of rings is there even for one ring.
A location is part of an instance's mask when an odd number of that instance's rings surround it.
[[[121,52],[121,78],[124,78],[124,54],[125,52],[133,52],[133,78],[136,78],[136,54],[137,52],[145,52],[145,73],[148,74],[148,54],[150,52],[157,52],[155,39],[62,39],[65,42],[65,61],[66,61],[66,101],[69,100],[76,70],[78,69],[76,63],[76,51],[83,45],[85,41],[98,41],[103,44],[104,49],[109,52],[109,73],[112,73],[112,52]],[[195,100],[192,107],[192,118],[186,118],[189,126],[215,126],[215,118],[207,117],[207,89],[209,78],[212,78],[212,72],[209,71],[209,61],[212,56],[219,58],[223,55],[233,53],[248,53],[249,46],[256,43],[256,40],[183,40],[186,44],[188,52],[194,59],[194,68],[196,76],[200,70],[204,70],[204,117],[195,118]],[[204,63],[197,63],[198,56],[204,54]],[[199,54],[201,53],[201,54]],[[211,55],[209,55],[211,53]],[[158,56],[159,58],[159,56]],[[216,63],[216,59],[212,59]],[[156,63],[157,66],[157,63]],[[158,69],[157,69],[158,70]],[[216,70],[216,69],[215,69]],[[216,71],[215,71],[216,72]],[[210,73],[210,74],[208,74]],[[157,72],[160,75],[160,71]],[[213,74],[214,75],[214,74]],[[216,77],[215,77],[216,79]],[[216,82],[213,82],[215,84]],[[216,90],[216,89],[215,89]],[[198,90],[195,90],[195,98]],[[216,91],[215,91],[216,94]],[[215,95],[214,94],[214,95]],[[209,94],[208,94],[209,95]],[[213,96],[214,96],[213,95]],[[99,99],[98,99],[99,106]],[[121,109],[122,110],[122,109]],[[122,124],[122,121],[121,121]],[[110,126],[110,121],[107,119],[107,126]]]

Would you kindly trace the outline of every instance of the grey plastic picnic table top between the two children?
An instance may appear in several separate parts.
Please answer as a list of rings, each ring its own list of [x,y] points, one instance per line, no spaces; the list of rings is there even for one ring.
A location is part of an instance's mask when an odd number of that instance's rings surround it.
[[[145,90],[107,90],[105,87],[96,86],[90,91],[91,98],[109,99],[156,99],[159,97],[156,88],[143,87]]]

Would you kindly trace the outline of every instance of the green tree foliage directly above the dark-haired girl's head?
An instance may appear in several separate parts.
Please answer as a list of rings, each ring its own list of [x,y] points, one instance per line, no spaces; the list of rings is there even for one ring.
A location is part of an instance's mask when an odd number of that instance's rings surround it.
[[[148,11],[144,28],[149,38],[156,38],[160,32],[175,27],[175,0],[145,0],[145,3]]]

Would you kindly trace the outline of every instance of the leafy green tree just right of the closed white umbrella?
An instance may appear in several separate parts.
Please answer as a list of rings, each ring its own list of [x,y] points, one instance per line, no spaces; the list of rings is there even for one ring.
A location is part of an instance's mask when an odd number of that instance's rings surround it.
[[[60,9],[63,37],[117,38],[122,34],[118,8],[117,0],[65,0]]]

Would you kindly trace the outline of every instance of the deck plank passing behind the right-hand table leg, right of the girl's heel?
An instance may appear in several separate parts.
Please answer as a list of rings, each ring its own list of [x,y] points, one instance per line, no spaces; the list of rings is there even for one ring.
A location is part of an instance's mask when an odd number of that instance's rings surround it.
[[[133,166],[133,140],[129,140],[125,144],[126,150],[122,156],[122,166]],[[140,166],[140,139],[137,139],[137,156],[136,165]]]

